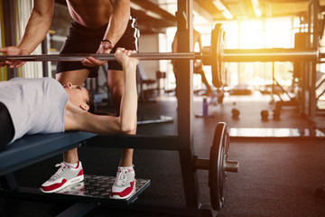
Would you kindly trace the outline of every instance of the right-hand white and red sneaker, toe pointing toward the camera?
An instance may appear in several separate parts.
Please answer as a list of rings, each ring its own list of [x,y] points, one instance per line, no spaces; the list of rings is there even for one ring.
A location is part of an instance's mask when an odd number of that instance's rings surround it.
[[[135,193],[135,170],[132,166],[118,166],[116,180],[112,186],[110,197],[126,199]]]

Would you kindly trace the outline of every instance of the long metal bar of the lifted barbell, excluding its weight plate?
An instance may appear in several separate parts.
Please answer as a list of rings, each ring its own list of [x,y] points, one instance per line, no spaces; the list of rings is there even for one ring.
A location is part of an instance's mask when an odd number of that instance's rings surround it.
[[[205,47],[205,49],[209,49]],[[208,50],[206,51],[208,52]],[[315,50],[299,50],[285,48],[271,49],[227,49],[221,54],[222,61],[316,61],[325,58],[325,53]],[[74,53],[74,54],[36,54],[0,56],[0,61],[81,61],[89,56],[99,61],[116,61],[113,53]],[[141,61],[158,60],[202,60],[209,58],[205,52],[138,52],[130,54]],[[208,61],[209,62],[209,61]],[[206,64],[208,65],[208,64]],[[210,65],[210,63],[209,63]]]

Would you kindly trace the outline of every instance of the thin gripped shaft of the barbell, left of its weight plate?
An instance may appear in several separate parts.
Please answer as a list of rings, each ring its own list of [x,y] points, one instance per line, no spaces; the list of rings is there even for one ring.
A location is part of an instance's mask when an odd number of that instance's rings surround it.
[[[99,61],[116,61],[116,57],[113,53],[8,55],[0,56],[0,61],[81,61],[89,56]],[[143,61],[202,59],[200,52],[137,52],[130,54],[130,56]]]

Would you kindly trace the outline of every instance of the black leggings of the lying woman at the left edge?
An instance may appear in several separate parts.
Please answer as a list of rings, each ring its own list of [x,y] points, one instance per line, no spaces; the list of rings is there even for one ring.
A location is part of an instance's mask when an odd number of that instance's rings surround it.
[[[5,146],[13,139],[13,137],[13,120],[4,103],[0,102],[0,151],[5,149]]]

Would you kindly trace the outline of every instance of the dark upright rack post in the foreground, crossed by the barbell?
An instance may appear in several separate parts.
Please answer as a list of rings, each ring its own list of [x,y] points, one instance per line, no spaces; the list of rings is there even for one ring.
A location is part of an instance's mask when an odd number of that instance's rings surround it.
[[[193,0],[177,1],[178,50],[193,51]],[[196,171],[193,170],[193,61],[181,60],[177,64],[178,148],[181,161],[186,205],[199,208],[200,193]]]

